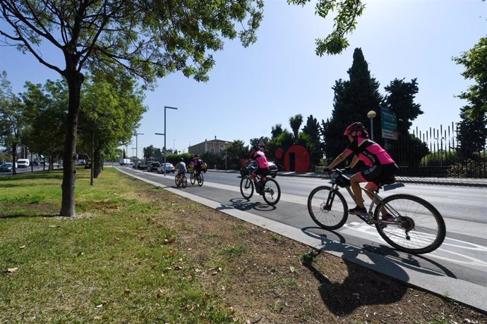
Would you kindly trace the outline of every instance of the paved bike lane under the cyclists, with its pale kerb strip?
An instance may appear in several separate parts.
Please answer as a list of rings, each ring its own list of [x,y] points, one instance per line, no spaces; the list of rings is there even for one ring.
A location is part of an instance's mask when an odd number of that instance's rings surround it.
[[[188,183],[181,189],[174,184],[174,175],[119,170],[315,249],[487,311],[487,244],[485,240],[475,242],[474,237],[462,234],[464,231],[452,231],[448,224],[447,237],[439,249],[414,256],[392,249],[375,228],[354,216],[339,230],[318,228],[308,216],[307,197],[282,193],[277,206],[268,206],[255,193],[249,201],[242,198],[239,183],[232,186],[205,180],[203,187]],[[461,226],[465,228],[464,223]]]

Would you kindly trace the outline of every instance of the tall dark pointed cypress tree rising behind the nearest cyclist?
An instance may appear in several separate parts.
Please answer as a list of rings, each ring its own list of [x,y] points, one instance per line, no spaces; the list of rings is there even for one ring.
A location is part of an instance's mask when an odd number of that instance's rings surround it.
[[[378,92],[379,82],[371,77],[361,49],[355,49],[354,61],[347,73],[350,80],[340,79],[335,82],[332,88],[335,91],[332,117],[322,123],[328,159],[335,158],[347,145],[348,141],[337,140],[344,139],[343,132],[348,125],[361,122],[368,128],[368,111],[377,112],[374,122],[380,125],[380,103],[383,97]],[[380,137],[374,139],[380,141]]]

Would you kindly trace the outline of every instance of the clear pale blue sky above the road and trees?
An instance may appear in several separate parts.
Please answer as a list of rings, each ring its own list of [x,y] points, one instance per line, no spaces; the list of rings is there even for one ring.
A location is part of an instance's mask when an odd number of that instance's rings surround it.
[[[487,2],[481,0],[371,0],[349,36],[349,49],[338,56],[316,56],[315,39],[325,37],[332,19],[314,15],[314,4],[290,6],[284,0],[265,1],[258,42],[247,49],[227,41],[216,53],[210,81],[198,83],[181,73],[159,80],[147,92],[148,112],[138,132],[138,156],[150,144],[163,147],[164,106],[167,110],[167,147],[188,151],[189,144],[205,139],[241,139],[270,136],[273,125],[290,130],[289,118],[301,113],[318,121],[332,112],[335,81],[347,80],[356,47],[363,51],[380,93],[395,78],[416,77],[423,115],[413,127],[451,125],[459,121],[466,104],[455,95],[470,84],[463,66],[452,61],[487,35]],[[49,53],[45,53],[46,56]],[[0,70],[6,70],[14,92],[25,81],[44,83],[59,75],[37,63],[32,55],[0,47]],[[128,145],[128,154],[136,139]]]

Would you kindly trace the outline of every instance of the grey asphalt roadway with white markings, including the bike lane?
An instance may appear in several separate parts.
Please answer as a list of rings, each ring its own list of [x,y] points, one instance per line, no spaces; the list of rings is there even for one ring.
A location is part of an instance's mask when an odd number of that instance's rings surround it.
[[[260,196],[254,195],[250,201],[243,199],[239,191],[240,175],[237,173],[209,171],[204,174],[203,187],[188,184],[185,189],[179,189],[174,185],[172,173],[164,176],[131,168],[121,170],[155,184],[173,188],[172,190],[181,194],[212,201],[215,209],[224,212],[233,209],[245,213],[250,218],[260,216],[259,219],[274,220],[287,228],[299,229],[299,232],[318,240],[317,246],[320,249],[340,251],[343,257],[347,257],[348,253],[347,250],[344,251],[344,247],[356,248],[351,249],[354,251],[353,259],[361,259],[358,255],[366,254],[368,259],[372,260],[364,262],[364,266],[406,282],[414,281],[416,276],[419,276],[419,283],[416,282],[416,285],[433,292],[448,294],[455,299],[452,296],[458,293],[457,290],[464,289],[464,292],[458,294],[464,294],[464,297],[469,299],[469,294],[475,290],[474,298],[481,298],[481,301],[474,299],[471,302],[474,305],[471,306],[487,310],[487,188],[408,183],[405,187],[381,192],[383,197],[397,193],[415,194],[431,202],[445,218],[447,237],[442,246],[430,254],[414,256],[389,247],[374,227],[363,223],[355,216],[349,216],[347,223],[336,231],[318,228],[308,215],[306,201],[314,187],[327,184],[325,179],[278,176],[282,197],[276,206],[271,207],[267,206]],[[347,197],[346,192],[344,196]],[[347,199],[347,203],[351,205],[351,199]],[[433,285],[432,282],[440,282],[437,285],[445,287],[429,287]],[[451,289],[455,291],[452,292]],[[462,302],[471,304],[468,301]]]

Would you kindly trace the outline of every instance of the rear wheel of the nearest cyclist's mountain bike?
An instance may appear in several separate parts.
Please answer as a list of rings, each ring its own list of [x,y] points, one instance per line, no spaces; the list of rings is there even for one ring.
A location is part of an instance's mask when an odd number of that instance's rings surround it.
[[[374,219],[382,216],[380,208],[395,216],[395,223],[375,228],[380,236],[399,251],[410,254],[429,253],[438,249],[446,235],[445,220],[428,201],[410,194],[393,194],[375,208]]]

